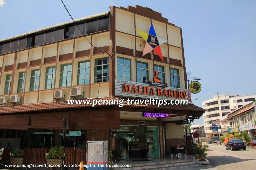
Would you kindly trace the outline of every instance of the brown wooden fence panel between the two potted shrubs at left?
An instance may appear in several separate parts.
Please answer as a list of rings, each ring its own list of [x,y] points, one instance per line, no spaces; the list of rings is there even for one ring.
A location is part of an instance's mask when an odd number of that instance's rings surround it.
[[[45,153],[48,149],[45,148],[24,148],[24,164],[46,164]]]

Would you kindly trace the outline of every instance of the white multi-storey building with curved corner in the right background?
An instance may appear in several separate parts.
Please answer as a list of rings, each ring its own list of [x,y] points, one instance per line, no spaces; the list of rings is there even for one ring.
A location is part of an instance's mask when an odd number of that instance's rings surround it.
[[[207,137],[211,139],[218,136],[217,131],[212,131],[212,121],[220,119],[230,113],[231,111],[236,110],[239,107],[247,105],[254,101],[256,94],[245,95],[245,96],[228,96],[225,94],[214,95],[213,99],[205,100],[202,105],[206,110],[204,113],[204,131]],[[219,136],[222,136],[221,132],[221,122],[219,126]]]

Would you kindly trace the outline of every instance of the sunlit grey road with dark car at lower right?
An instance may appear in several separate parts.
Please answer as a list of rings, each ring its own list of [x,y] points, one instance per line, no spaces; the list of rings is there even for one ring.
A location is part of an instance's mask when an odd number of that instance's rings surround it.
[[[203,143],[204,144],[204,143]],[[224,144],[208,144],[207,159],[217,170],[256,169],[256,148],[226,150]]]

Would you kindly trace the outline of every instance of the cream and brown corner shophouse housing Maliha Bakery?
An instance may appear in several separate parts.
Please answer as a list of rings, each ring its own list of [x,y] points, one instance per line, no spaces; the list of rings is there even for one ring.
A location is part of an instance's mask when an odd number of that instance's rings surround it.
[[[8,138],[11,146],[20,148],[63,145],[62,120],[66,118],[67,134],[81,131],[77,147],[83,148],[88,140],[108,141],[108,150],[121,145],[126,159],[163,158],[170,146],[190,142],[184,137],[184,123],[204,113],[193,104],[68,105],[70,99],[188,98],[181,28],[161,13],[138,5],[109,9],[75,20],[95,48],[72,21],[0,40],[1,140]],[[164,62],[153,51],[142,61],[145,41],[135,29],[147,33],[151,23],[157,37],[168,40],[160,46]],[[147,84],[155,71],[167,84],[158,87],[158,93]],[[123,83],[141,92],[124,92]],[[149,94],[141,94],[143,88]],[[143,117],[144,112],[170,117]],[[15,143],[17,139],[20,142]],[[74,137],[67,135],[66,147],[73,147],[73,142]]]

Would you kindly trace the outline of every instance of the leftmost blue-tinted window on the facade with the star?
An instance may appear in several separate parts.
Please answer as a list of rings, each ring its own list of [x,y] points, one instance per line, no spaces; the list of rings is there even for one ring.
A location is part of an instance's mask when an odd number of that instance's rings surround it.
[[[117,57],[117,79],[132,81],[132,63],[131,59]]]

